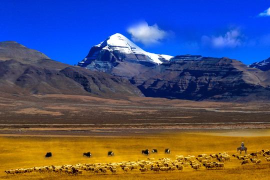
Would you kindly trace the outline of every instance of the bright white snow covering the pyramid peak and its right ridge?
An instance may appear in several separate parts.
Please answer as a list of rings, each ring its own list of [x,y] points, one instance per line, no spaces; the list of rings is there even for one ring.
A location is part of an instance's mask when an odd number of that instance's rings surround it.
[[[104,41],[100,42],[98,45],[95,45],[95,47],[103,47],[103,49],[107,50],[119,50],[124,53],[145,54],[153,62],[158,64],[162,63],[162,61],[159,60],[160,58],[169,60],[171,57],[173,57],[170,55],[146,52],[120,33],[115,33],[109,36]]]

